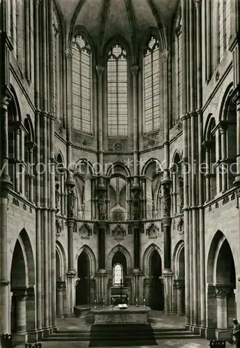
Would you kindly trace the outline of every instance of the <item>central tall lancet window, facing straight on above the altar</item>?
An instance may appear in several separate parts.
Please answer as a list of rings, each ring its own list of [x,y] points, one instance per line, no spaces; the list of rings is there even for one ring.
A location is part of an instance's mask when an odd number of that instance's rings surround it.
[[[111,47],[107,61],[108,135],[127,136],[127,53]]]

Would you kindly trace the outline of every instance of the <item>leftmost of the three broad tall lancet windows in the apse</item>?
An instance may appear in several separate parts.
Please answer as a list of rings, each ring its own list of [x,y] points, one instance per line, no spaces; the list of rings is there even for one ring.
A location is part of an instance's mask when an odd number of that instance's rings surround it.
[[[72,122],[74,129],[91,133],[91,50],[86,38],[72,40]]]

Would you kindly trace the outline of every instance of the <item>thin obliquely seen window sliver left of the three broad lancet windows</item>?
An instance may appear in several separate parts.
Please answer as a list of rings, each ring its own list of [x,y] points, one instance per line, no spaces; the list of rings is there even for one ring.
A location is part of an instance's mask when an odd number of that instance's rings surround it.
[[[59,35],[58,35],[58,22],[56,15],[54,14],[54,21],[52,24],[53,36],[52,36],[52,46],[53,46],[53,79],[54,79],[54,90],[53,90],[53,107],[54,116],[57,117],[57,95],[58,95],[58,45],[59,45]]]

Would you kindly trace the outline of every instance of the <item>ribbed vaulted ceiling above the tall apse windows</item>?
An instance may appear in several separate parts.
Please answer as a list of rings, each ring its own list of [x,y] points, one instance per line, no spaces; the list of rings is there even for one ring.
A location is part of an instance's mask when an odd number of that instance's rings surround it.
[[[74,28],[82,26],[98,51],[120,36],[127,45],[138,49],[147,31],[154,27],[168,31],[179,0],[56,0],[67,40]]]

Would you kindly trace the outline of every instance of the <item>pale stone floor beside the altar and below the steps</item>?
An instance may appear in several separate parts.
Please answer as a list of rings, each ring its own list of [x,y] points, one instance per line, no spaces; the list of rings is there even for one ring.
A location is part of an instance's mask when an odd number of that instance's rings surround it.
[[[58,329],[60,330],[90,330],[90,324],[86,324],[85,318],[58,318],[57,319]],[[169,317],[164,315],[162,312],[152,310],[150,312],[150,324],[154,328],[161,329],[177,329],[184,327],[184,317]],[[42,342],[42,348],[88,348],[89,342]],[[209,341],[203,338],[197,338],[194,340],[157,340],[157,345],[143,345],[143,346],[126,346],[119,348],[207,348],[209,347]],[[227,343],[227,347],[232,347]],[[17,346],[17,348],[24,348],[24,346]],[[99,348],[104,348],[99,346]],[[118,348],[118,347],[114,347]]]

